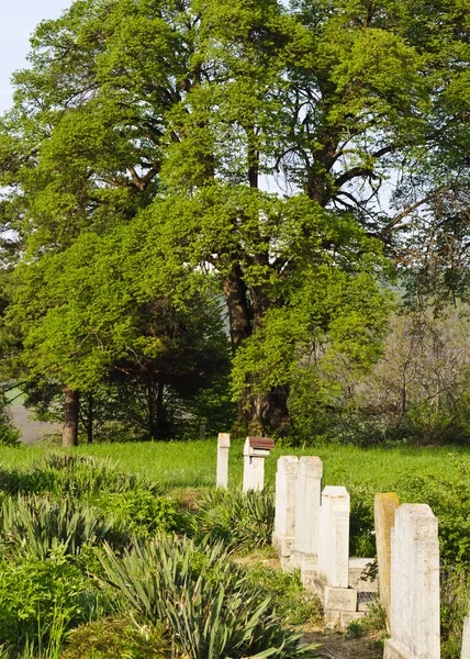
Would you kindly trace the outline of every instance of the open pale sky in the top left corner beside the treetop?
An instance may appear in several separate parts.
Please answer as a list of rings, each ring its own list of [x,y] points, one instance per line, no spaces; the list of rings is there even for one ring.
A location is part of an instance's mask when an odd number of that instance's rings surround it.
[[[10,78],[26,66],[30,36],[43,19],[56,19],[71,0],[0,0],[0,112],[12,105]]]

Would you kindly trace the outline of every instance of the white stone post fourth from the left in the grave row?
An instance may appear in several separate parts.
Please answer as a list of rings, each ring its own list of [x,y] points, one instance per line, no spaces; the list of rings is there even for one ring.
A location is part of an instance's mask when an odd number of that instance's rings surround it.
[[[300,568],[302,581],[309,585],[318,563],[320,506],[323,463],[320,458],[304,456],[299,460],[295,487],[295,536],[291,565]]]

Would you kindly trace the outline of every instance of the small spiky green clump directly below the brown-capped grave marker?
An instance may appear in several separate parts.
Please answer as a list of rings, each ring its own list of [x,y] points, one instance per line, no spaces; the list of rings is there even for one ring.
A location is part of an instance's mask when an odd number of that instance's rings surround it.
[[[211,490],[197,502],[197,525],[201,536],[222,540],[231,549],[266,547],[271,543],[275,523],[275,496],[270,488],[249,490]]]

